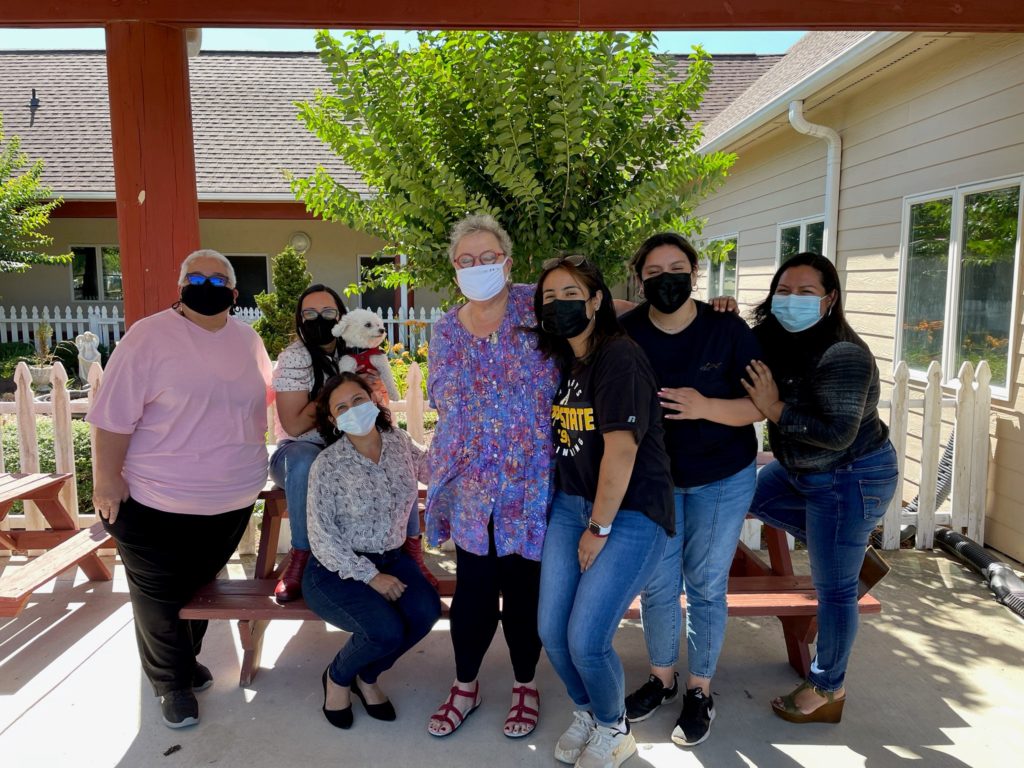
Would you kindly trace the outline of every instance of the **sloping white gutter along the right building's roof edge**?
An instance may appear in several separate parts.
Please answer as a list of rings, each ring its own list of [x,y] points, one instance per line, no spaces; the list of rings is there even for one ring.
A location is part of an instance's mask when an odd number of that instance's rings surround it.
[[[728,130],[702,144],[699,151],[702,153],[724,152],[730,144],[751,131],[785,114],[791,101],[812,96],[833,81],[855,70],[911,34],[909,32],[872,32],[864,39],[851,45],[836,58],[810,73],[803,80],[786,88],[771,101],[748,115]]]

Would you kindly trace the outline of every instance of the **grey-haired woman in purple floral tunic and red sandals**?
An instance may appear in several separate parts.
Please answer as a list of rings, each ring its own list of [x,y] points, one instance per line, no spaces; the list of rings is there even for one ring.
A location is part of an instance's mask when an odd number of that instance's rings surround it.
[[[537,725],[534,673],[541,655],[537,604],[551,499],[552,361],[537,350],[532,286],[510,285],[512,243],[490,216],[452,230],[449,257],[468,299],[433,329],[430,399],[438,422],[430,446],[427,535],[455,541],[452,601],[456,679],[427,730],[446,736],[480,703],[477,675],[498,629],[499,597],[515,686],[504,733]]]

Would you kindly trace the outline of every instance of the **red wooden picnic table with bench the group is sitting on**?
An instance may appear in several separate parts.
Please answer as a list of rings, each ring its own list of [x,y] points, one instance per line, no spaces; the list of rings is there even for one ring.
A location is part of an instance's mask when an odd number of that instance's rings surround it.
[[[283,488],[267,483],[259,496],[264,502],[256,567],[252,579],[216,579],[202,587],[179,615],[182,618],[237,620],[243,658],[239,685],[252,683],[259,671],[263,634],[272,620],[323,621],[302,599],[279,604],[273,588],[287,565],[287,557],[275,565],[281,521],[288,516]],[[765,526],[768,562],[740,543],[729,574],[728,612],[731,616],[777,616],[782,625],[790,665],[801,675],[810,671],[810,644],[817,635],[817,595],[811,578],[796,575],[785,532]],[[456,579],[440,577],[442,615],[446,615],[455,593]],[[686,607],[686,598],[680,602]],[[879,613],[882,604],[871,595],[860,599],[861,613]],[[627,618],[640,617],[640,600],[633,601]]]

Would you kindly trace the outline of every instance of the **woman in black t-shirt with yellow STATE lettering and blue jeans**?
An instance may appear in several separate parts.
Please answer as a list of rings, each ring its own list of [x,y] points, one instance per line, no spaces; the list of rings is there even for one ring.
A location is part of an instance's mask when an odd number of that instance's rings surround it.
[[[583,256],[545,262],[535,309],[539,346],[562,374],[551,412],[555,499],[539,626],[575,712],[555,758],[618,765],[636,742],[611,641],[674,532],[657,386],[618,326],[600,271]]]

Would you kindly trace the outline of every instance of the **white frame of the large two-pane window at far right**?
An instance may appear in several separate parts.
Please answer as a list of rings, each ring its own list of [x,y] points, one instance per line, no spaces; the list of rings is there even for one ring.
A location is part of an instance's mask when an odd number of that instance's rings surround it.
[[[945,315],[942,318],[942,386],[955,389],[959,385],[956,378],[958,370],[951,370],[951,361],[956,359],[957,309],[959,308],[959,273],[961,273],[961,238],[964,234],[964,199],[969,195],[1004,189],[1017,185],[1017,243],[1014,246],[1014,287],[1010,301],[1010,338],[1007,343],[1007,383],[992,384],[992,398],[1007,400],[1010,389],[1016,377],[1017,361],[1017,311],[1018,293],[1020,292],[1021,271],[1021,229],[1024,228],[1024,175],[1007,176],[1005,178],[978,181],[969,184],[958,184],[944,189],[935,189],[922,195],[903,198],[902,221],[900,222],[899,248],[899,291],[896,294],[896,328],[893,334],[894,365],[903,359],[903,295],[906,291],[906,260],[910,244],[910,209],[921,203],[929,203],[944,198],[952,199],[952,214],[950,220],[949,249],[946,263],[946,303]],[[907,367],[909,369],[909,366]],[[910,380],[924,383],[928,380],[927,372],[909,370]]]

